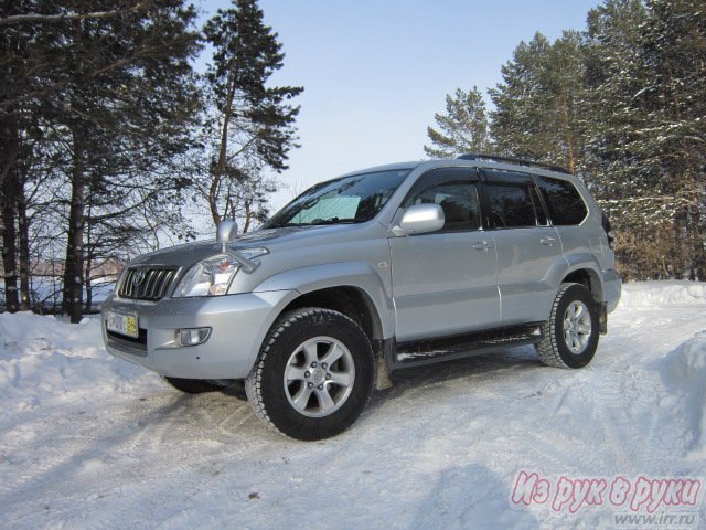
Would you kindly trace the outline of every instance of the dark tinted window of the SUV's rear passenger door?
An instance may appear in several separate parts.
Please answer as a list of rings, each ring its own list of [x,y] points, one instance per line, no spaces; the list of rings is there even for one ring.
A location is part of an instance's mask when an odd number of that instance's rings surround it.
[[[484,189],[490,221],[494,227],[516,229],[538,224],[530,186],[491,182],[484,184]]]

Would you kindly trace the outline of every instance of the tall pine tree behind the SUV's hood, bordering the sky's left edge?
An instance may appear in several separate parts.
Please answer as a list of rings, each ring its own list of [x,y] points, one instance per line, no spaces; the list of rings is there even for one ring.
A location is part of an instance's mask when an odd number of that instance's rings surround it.
[[[303,88],[269,86],[285,55],[256,0],[234,0],[206,23],[204,33],[214,49],[206,80],[217,115],[210,186],[203,192],[215,224],[240,218],[247,229],[266,215],[264,197],[271,180],[264,171],[287,169],[288,153],[297,147],[299,107],[289,102]]]

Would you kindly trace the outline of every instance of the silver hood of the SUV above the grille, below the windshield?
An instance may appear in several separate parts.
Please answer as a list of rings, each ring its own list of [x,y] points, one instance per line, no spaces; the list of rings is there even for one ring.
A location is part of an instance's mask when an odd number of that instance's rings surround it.
[[[256,230],[243,234],[235,241],[228,243],[228,250],[252,248],[266,246],[272,253],[280,247],[302,246],[307,244],[319,244],[322,240],[340,240],[344,234],[354,232],[362,227],[362,224],[335,224],[325,226],[289,226],[284,229]],[[220,254],[221,244],[215,240],[195,241],[183,245],[160,248],[138,256],[132,265],[168,265],[179,267],[191,267],[197,262]]]

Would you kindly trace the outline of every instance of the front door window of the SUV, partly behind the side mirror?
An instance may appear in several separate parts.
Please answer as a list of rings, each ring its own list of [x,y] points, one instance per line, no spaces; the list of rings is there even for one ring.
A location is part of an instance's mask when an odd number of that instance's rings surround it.
[[[417,194],[411,204],[439,204],[443,210],[443,232],[478,230],[481,224],[477,184],[443,182]]]

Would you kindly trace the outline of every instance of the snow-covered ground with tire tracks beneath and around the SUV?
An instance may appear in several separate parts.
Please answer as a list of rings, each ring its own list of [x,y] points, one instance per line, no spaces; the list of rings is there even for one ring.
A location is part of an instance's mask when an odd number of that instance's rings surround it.
[[[395,381],[300,443],[110,358],[97,318],[0,315],[0,528],[610,527],[512,509],[513,480],[706,475],[706,284],[627,285],[584,370],[521,348]]]

